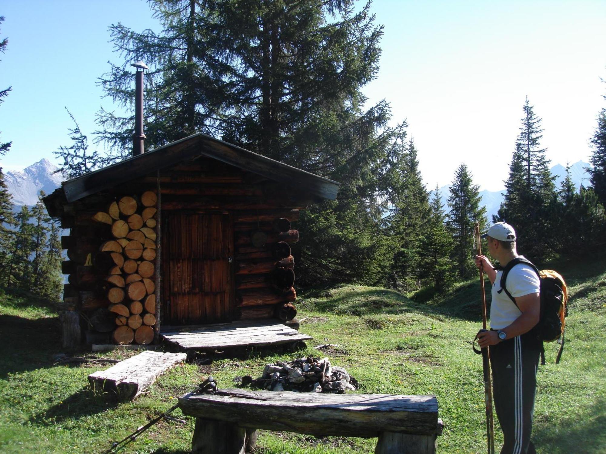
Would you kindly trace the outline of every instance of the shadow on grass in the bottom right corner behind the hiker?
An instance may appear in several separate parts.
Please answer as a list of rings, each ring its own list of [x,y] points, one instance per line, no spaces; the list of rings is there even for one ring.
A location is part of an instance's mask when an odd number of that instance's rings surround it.
[[[535,424],[534,444],[541,446],[542,452],[552,454],[602,452],[600,447],[606,444],[606,400],[599,398],[582,413],[585,418],[574,415],[559,419],[555,424],[546,421],[539,429]]]

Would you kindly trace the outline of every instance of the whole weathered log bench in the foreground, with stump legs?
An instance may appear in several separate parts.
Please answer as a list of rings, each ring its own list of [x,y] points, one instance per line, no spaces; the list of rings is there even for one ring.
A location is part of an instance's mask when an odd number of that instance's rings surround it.
[[[222,389],[185,394],[179,407],[196,416],[192,450],[200,454],[249,452],[257,429],[379,437],[376,454],[433,454],[442,431],[435,396]]]

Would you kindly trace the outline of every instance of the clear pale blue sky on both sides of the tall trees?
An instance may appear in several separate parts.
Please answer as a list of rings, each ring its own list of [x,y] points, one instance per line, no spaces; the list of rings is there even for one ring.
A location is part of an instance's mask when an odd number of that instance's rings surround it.
[[[371,11],[384,36],[367,105],[385,99],[393,123],[407,121],[428,189],[461,163],[481,189],[502,189],[526,97],[551,164],[588,162],[606,107],[604,0],[375,0]],[[13,88],[0,105],[0,140],[13,142],[4,171],[56,161],[53,150],[70,145],[65,107],[102,150],[95,114],[119,108],[96,83],[108,61],[122,63],[107,28],[159,30],[147,2],[5,0],[0,16],[0,87]]]

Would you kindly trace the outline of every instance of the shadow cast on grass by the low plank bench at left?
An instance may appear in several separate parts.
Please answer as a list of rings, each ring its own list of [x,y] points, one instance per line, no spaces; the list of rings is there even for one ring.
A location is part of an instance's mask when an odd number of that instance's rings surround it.
[[[118,407],[123,401],[116,393],[94,392],[88,386],[82,387],[61,403],[49,407],[38,415],[33,415],[29,422],[40,426],[55,426],[64,419],[79,419],[85,416],[96,415],[105,410]]]

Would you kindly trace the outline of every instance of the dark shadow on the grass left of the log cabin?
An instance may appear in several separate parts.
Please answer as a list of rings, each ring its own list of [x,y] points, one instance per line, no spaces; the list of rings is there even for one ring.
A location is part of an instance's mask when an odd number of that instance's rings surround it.
[[[58,317],[28,318],[0,315],[0,378],[9,373],[52,367],[52,354],[61,347]]]

